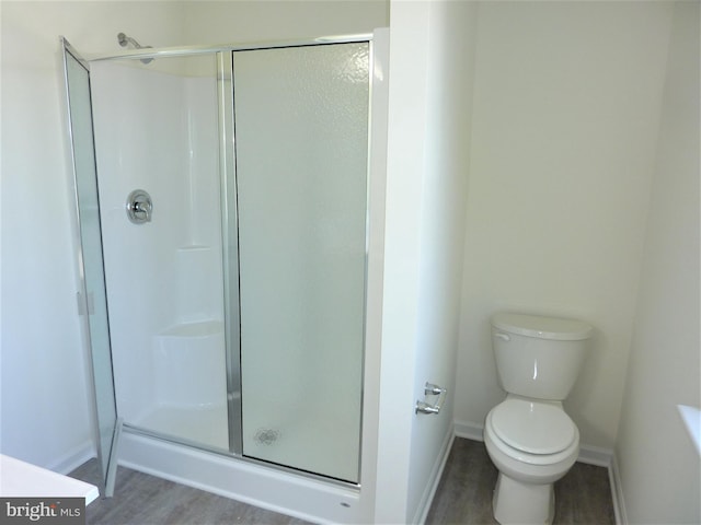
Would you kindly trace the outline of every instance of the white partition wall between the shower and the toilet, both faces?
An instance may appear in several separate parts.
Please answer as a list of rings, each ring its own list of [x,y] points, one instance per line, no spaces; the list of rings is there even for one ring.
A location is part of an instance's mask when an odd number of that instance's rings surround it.
[[[474,5],[391,5],[376,523],[423,520],[452,436]],[[438,416],[413,410],[427,381]]]

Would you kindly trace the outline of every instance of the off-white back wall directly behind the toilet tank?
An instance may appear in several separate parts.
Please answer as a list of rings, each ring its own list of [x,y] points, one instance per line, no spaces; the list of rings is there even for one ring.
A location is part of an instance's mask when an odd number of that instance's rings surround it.
[[[501,310],[596,327],[565,404],[611,451],[631,342],[671,7],[479,5],[456,420],[479,431],[499,388]]]

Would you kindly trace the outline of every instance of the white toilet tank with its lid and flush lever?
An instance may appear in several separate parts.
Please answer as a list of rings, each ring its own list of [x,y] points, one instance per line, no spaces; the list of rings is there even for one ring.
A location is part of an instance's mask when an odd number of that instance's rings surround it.
[[[499,313],[491,320],[502,387],[524,397],[565,399],[594,328],[579,320],[526,314]]]

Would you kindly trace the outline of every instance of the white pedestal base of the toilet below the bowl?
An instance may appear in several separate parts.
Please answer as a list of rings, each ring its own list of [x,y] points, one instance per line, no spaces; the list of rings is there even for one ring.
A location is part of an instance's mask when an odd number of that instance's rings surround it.
[[[521,483],[499,472],[492,509],[502,525],[551,525],[555,514],[553,483]]]

